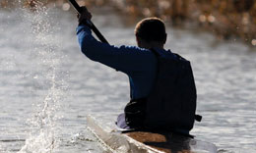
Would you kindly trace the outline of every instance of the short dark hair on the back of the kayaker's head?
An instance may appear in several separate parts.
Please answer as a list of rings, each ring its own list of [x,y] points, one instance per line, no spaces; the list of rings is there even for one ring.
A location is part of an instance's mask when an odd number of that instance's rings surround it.
[[[135,27],[136,37],[148,42],[159,41],[165,43],[166,32],[164,23],[159,18],[146,18]]]

